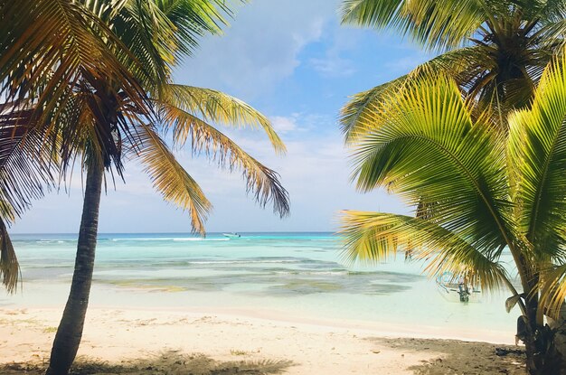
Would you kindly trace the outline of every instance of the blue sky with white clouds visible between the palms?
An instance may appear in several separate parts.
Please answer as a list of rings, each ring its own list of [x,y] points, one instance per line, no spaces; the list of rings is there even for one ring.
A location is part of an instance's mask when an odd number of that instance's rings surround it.
[[[392,80],[429,60],[419,46],[394,33],[339,24],[335,0],[253,0],[232,4],[231,25],[206,36],[175,71],[176,83],[219,89],[269,117],[288,148],[275,155],[261,131],[222,128],[250,155],[280,174],[291,212],[280,219],[246,193],[240,171],[222,170],[190,150],[178,160],[201,185],[213,209],[206,222],[219,231],[334,231],[339,211],[410,213],[385,192],[356,192],[352,164],[338,125],[340,108],[356,92]],[[188,232],[186,212],[162,200],[135,161],[126,183],[108,184],[99,232]],[[49,192],[12,226],[14,233],[75,233],[82,181]]]

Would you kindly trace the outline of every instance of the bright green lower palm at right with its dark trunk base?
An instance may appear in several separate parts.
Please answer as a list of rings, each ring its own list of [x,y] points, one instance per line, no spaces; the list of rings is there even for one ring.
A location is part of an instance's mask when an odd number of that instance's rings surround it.
[[[354,142],[362,191],[387,186],[427,218],[344,211],[345,252],[382,260],[411,248],[431,275],[466,275],[485,290],[507,288],[519,305],[531,374],[566,373],[554,329],[566,297],[566,58],[544,71],[528,109],[507,119],[477,115],[451,78],[414,80],[384,100],[388,118]],[[364,117],[370,126],[372,112]],[[501,256],[510,252],[514,270]],[[563,327],[561,328],[563,329]]]

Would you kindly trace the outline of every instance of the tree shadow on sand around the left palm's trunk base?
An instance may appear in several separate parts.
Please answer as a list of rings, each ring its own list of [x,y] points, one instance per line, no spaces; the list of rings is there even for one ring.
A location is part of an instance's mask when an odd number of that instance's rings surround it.
[[[214,361],[203,354],[168,351],[119,364],[78,358],[70,375],[267,375],[283,373],[292,365],[292,361],[286,360]],[[47,363],[0,364],[0,373],[4,375],[39,375],[44,374],[45,370]]]

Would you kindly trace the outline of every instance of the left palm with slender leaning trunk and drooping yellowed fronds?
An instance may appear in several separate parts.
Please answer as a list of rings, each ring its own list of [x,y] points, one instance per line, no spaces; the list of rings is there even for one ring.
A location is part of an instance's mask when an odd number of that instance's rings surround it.
[[[2,5],[4,13],[11,12]],[[165,201],[188,211],[193,230],[203,234],[211,203],[163,136],[169,132],[174,145],[190,142],[195,153],[222,167],[240,168],[259,204],[272,202],[281,216],[288,213],[288,193],[278,174],[211,124],[259,127],[277,152],[285,146],[269,120],[241,100],[170,79],[172,68],[193,52],[202,35],[221,31],[222,13],[229,14],[222,0],[45,0],[27,2],[22,9],[17,15],[23,21],[4,41],[9,53],[2,57],[12,64],[0,70],[5,92],[33,108],[33,121],[25,124],[42,131],[46,149],[59,155],[61,173],[75,161],[86,173],[71,293],[47,370],[66,374],[89,301],[105,171],[112,179],[122,177],[124,157],[136,157]],[[45,14],[51,18],[43,20]],[[26,23],[38,19],[48,30]],[[68,33],[61,39],[53,25]],[[26,50],[25,42],[33,42],[35,49]],[[42,74],[35,74],[39,70]]]

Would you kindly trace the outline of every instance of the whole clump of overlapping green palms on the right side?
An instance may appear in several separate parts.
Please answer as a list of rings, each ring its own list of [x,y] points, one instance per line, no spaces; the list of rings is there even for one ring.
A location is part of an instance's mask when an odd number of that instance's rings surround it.
[[[507,310],[522,310],[530,373],[566,368],[566,182],[553,174],[561,173],[564,117],[550,101],[564,100],[566,2],[344,0],[341,14],[343,23],[392,28],[439,52],[343,108],[358,188],[386,188],[415,208],[413,218],[346,212],[348,256],[375,261],[405,248],[429,260],[430,274],[448,269],[486,290],[507,287]],[[504,251],[522,290],[499,261]]]

